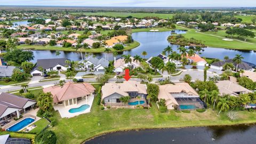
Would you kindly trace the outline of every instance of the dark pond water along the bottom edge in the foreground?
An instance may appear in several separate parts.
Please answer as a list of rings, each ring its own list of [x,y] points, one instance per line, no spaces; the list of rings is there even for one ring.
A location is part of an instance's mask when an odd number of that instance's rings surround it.
[[[101,135],[85,144],[153,144],[153,143],[255,143],[255,125],[188,127],[182,129],[150,129],[140,131],[115,132]]]

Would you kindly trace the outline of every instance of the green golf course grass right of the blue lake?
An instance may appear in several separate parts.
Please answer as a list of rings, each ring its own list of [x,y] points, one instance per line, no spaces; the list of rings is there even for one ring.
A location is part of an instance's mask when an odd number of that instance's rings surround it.
[[[237,49],[237,50],[256,50],[255,44],[248,44],[244,42],[238,41],[224,41],[221,37],[215,37],[211,35],[204,35],[200,33],[196,33],[196,29],[184,28],[181,26],[177,26],[177,29],[185,29],[188,30],[186,34],[183,34],[186,38],[195,38],[201,40],[205,45],[209,47],[219,47],[226,49]],[[212,32],[204,32],[205,34],[212,34],[217,36],[225,36],[225,31],[219,31],[217,34],[213,34]],[[255,38],[249,38],[247,42],[256,42]]]

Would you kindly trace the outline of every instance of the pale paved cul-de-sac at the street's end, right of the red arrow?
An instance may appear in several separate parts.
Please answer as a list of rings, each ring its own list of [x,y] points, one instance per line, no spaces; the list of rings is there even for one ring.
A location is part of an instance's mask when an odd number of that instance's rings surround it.
[[[196,81],[197,79],[200,81],[204,81],[204,71],[203,70],[185,70],[183,73],[179,76],[172,76],[171,81],[178,82],[179,80],[183,79],[183,77],[188,74],[192,77],[192,81]],[[207,71],[207,78],[217,76],[217,74],[212,73],[211,71]]]

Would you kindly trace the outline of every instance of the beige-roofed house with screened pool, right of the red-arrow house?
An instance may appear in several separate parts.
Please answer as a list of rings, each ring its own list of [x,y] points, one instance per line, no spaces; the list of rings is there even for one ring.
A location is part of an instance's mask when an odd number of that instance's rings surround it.
[[[197,92],[188,83],[160,85],[158,100],[165,99],[167,109],[204,108]]]

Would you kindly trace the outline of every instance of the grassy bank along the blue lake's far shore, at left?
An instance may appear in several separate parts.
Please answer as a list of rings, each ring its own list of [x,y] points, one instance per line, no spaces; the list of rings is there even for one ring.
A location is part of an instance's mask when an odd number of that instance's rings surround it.
[[[123,51],[134,49],[135,47],[139,46],[140,43],[134,41],[133,43],[127,44],[124,47]],[[50,51],[68,51],[68,52],[80,52],[80,50],[76,50],[74,47],[59,47],[59,46],[43,46],[43,45],[19,45],[17,46],[18,49],[23,50],[50,50]],[[115,51],[113,48],[110,49],[111,51]],[[83,49],[82,52],[91,52],[91,53],[101,53],[105,51],[105,47],[100,47],[98,49]]]

